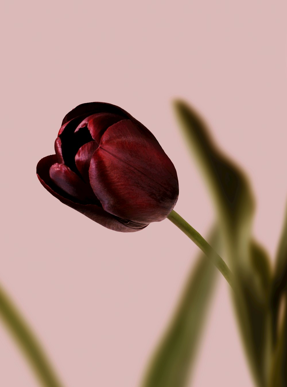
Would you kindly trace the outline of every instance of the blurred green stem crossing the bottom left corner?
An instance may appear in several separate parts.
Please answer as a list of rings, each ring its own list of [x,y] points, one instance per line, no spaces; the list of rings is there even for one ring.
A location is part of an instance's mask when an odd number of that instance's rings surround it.
[[[0,287],[0,317],[45,387],[62,387],[36,337]]]

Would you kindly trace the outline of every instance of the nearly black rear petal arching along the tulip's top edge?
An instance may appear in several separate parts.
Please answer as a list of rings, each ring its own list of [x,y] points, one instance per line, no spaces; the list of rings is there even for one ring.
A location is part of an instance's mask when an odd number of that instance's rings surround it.
[[[73,110],[69,111],[69,113],[65,115],[62,125],[64,125],[67,121],[73,120],[74,118],[81,115],[90,116],[95,113],[103,112],[117,114],[123,116],[124,118],[130,117],[129,113],[119,108],[119,106],[105,102],[89,102],[82,103],[81,105],[76,106],[76,108]]]

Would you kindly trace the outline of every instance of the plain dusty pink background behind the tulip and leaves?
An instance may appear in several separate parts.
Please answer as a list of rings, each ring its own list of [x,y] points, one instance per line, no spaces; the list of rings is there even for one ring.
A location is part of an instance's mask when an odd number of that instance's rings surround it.
[[[279,0],[4,5],[0,281],[65,386],[135,387],[198,249],[168,220],[122,234],[52,197],[36,178],[64,115],[89,101],[143,122],[177,168],[176,211],[206,235],[205,185],[171,109],[185,98],[248,173],[254,234],[274,255],[287,196],[286,16]],[[0,325],[0,384],[37,385]],[[221,279],[192,385],[252,386]]]

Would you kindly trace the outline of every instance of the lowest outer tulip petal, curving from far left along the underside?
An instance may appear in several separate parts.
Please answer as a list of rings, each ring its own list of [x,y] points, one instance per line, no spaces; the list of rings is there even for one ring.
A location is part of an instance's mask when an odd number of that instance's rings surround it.
[[[101,224],[104,227],[126,233],[139,231],[138,228],[130,228],[120,223],[113,215],[103,210],[103,208],[98,207],[98,205],[80,204],[64,197],[62,195],[62,191],[52,182],[49,175],[49,170],[51,166],[55,163],[57,163],[57,156],[53,154],[51,156],[46,156],[41,159],[37,165],[38,179],[40,180],[40,183],[43,185],[43,187],[45,187],[46,190],[50,192],[50,194],[55,196],[62,203],[68,205],[76,211],[81,212],[81,214],[84,214],[85,216],[89,217],[90,219],[92,219],[96,223]]]

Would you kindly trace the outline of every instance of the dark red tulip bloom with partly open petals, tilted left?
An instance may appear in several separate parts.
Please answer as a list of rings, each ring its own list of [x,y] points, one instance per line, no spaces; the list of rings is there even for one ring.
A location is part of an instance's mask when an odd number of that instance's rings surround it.
[[[138,231],[165,219],[177,202],[174,165],[153,134],[129,113],[92,102],[68,113],[41,184],[62,203],[103,226]]]

